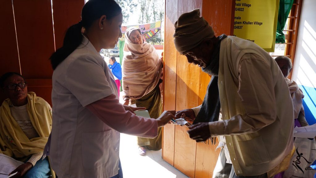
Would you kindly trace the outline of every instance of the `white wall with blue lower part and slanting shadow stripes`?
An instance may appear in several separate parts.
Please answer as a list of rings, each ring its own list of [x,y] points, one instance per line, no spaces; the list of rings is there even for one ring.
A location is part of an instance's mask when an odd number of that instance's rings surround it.
[[[303,0],[292,80],[304,92],[309,122],[316,123],[316,1]],[[306,108],[307,107],[307,108]],[[310,123],[311,124],[311,123]]]

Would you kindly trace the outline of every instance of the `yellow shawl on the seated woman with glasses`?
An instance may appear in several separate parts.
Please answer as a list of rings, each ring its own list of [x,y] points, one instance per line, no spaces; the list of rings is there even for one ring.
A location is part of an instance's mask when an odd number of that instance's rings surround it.
[[[52,130],[52,108],[34,92],[27,94],[27,112],[40,137],[28,139],[10,112],[10,99],[0,107],[0,153],[22,158],[43,152]]]

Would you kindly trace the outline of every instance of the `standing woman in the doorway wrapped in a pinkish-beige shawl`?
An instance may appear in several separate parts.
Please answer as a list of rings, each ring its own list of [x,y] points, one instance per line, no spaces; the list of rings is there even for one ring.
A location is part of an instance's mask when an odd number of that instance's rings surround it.
[[[161,59],[154,46],[144,42],[139,29],[128,28],[125,32],[123,57],[124,105],[132,100],[137,107],[146,107],[150,118],[158,118],[162,113],[159,89],[161,71]],[[137,142],[140,155],[145,155],[146,149],[161,149],[161,129],[158,130],[157,137],[137,137]]]

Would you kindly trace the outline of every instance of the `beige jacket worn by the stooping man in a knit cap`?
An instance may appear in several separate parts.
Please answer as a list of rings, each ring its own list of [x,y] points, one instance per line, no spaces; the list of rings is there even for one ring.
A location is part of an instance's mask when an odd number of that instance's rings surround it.
[[[213,137],[226,136],[236,175],[269,172],[293,148],[293,104],[271,56],[234,36],[221,42],[218,86],[222,119],[210,122]]]

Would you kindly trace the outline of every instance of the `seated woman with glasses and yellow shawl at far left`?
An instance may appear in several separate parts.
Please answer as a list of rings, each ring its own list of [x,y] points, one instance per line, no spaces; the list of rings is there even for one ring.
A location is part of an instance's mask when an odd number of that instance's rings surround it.
[[[0,107],[0,153],[24,162],[13,177],[55,177],[48,158],[41,160],[52,128],[52,108],[34,92],[19,73],[5,73],[1,88],[9,98]]]

